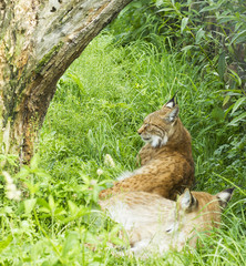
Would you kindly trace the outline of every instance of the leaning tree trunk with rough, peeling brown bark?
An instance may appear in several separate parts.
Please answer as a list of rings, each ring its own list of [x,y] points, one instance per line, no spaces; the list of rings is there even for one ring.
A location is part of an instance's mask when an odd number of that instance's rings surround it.
[[[0,143],[29,162],[57,82],[132,0],[0,0]]]

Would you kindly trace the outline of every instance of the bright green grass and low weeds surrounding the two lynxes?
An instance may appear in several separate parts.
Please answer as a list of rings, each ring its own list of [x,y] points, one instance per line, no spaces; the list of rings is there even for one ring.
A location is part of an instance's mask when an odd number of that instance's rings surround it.
[[[14,203],[1,185],[0,265],[244,265],[245,135],[228,126],[222,83],[201,74],[191,58],[136,41],[113,43],[105,32],[90,43],[61,78],[37,144],[38,154],[14,182],[29,197]],[[224,225],[202,237],[197,250],[141,260],[115,255],[117,226],[105,221],[98,192],[136,167],[144,116],[177,92],[181,117],[193,137],[194,190],[217,193],[236,186]],[[104,163],[110,154],[115,167]],[[102,170],[99,175],[98,170]],[[90,245],[95,246],[93,250]]]

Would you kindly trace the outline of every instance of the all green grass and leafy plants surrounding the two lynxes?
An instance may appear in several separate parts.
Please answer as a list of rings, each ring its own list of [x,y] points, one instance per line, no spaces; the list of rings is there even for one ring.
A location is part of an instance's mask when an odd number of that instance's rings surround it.
[[[134,1],[61,78],[30,166],[16,173],[16,157],[1,155],[10,175],[0,177],[0,265],[245,265],[245,64],[236,55],[245,6],[191,4]],[[209,37],[209,24],[234,31]],[[194,190],[235,186],[234,196],[197,250],[120,256],[109,244],[124,245],[119,226],[100,213],[98,193],[136,167],[136,130],[175,92],[193,137]]]

